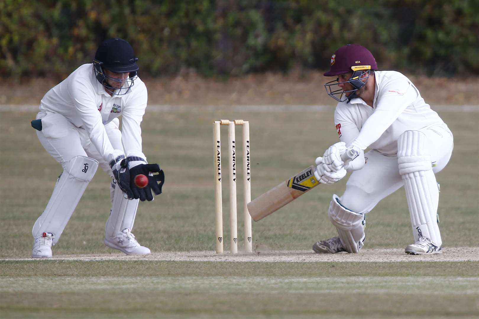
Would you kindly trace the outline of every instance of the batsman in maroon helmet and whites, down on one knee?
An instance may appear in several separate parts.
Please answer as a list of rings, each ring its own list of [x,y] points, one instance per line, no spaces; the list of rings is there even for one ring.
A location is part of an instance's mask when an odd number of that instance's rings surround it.
[[[397,71],[377,71],[365,47],[347,44],[331,56],[336,77],[325,84],[338,101],[334,123],[341,142],[316,159],[319,182],[332,184],[352,171],[341,197],[333,195],[328,216],[338,236],[316,242],[316,253],[358,253],[365,242],[365,214],[404,186],[414,242],[409,254],[440,253],[434,176],[448,163],[453,135],[422,99],[411,80]],[[365,150],[369,149],[365,153]],[[345,152],[353,160],[342,160]]]

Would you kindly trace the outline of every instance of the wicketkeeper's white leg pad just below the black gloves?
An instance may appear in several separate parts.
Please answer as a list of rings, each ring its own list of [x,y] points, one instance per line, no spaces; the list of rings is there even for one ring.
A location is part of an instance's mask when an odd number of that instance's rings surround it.
[[[139,199],[125,198],[123,191],[115,182],[112,182],[111,186],[113,188],[112,209],[106,221],[105,232],[107,236],[113,238],[125,228],[133,230]]]

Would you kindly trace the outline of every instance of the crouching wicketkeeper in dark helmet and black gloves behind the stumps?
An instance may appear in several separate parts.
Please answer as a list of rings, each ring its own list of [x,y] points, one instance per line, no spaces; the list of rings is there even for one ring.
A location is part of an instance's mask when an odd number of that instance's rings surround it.
[[[148,94],[137,76],[137,60],[128,42],[108,39],[100,44],[92,63],[77,68],[41,100],[32,126],[63,172],[34,223],[32,257],[52,257],[52,245],[99,165],[112,177],[105,245],[128,255],[150,253],[131,231],[138,200],[152,200],[152,191],[161,193],[164,173],[160,165],[148,164],[142,151],[140,123]],[[138,175],[148,176],[146,186],[135,184]]]

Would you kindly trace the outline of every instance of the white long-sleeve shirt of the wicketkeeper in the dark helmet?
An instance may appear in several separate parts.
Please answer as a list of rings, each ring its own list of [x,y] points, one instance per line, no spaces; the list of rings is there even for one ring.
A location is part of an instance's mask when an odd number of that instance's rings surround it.
[[[80,66],[51,88],[40,102],[40,111],[62,114],[75,126],[84,128],[106,161],[112,159],[114,149],[104,124],[122,115],[125,155],[146,158],[142,152],[140,123],[147,100],[147,88],[139,77],[125,95],[110,96],[96,79],[90,63]]]

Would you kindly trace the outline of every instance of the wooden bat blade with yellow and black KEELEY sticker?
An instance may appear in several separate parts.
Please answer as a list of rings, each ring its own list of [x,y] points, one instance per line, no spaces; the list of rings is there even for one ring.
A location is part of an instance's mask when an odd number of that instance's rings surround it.
[[[309,166],[301,173],[287,179],[248,203],[248,211],[254,221],[274,213],[320,183],[314,177],[315,167]]]

